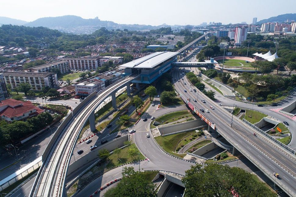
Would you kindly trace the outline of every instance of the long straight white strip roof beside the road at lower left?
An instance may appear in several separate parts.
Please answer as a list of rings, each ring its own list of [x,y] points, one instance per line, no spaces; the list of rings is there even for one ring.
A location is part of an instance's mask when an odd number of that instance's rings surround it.
[[[33,171],[37,170],[42,165],[42,158],[39,157],[38,159],[34,160],[30,164],[26,165],[25,167],[21,168],[20,170],[16,171],[15,173],[9,175],[5,179],[0,181],[0,192],[9,187],[11,184],[19,181],[20,179],[24,178],[28,174],[32,173]]]

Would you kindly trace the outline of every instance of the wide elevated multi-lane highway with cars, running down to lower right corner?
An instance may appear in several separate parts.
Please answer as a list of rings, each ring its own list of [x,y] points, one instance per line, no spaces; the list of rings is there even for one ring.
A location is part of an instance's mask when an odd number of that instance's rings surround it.
[[[202,92],[199,92],[199,98],[197,102],[193,102],[194,98],[197,98],[197,93],[189,91],[190,82],[184,75],[180,75],[183,71],[181,69],[174,69],[173,78],[181,79],[178,82],[174,81],[174,85],[180,94],[186,98],[192,100],[191,104],[199,109],[208,109],[210,113],[204,113],[209,120],[216,125],[216,130],[235,146],[242,154],[250,159],[255,165],[264,171],[265,175],[271,180],[274,180],[278,185],[290,195],[296,195],[296,160],[295,157],[289,153],[286,153],[283,149],[279,148],[273,142],[265,139],[261,135],[254,136],[253,129],[246,126],[238,118],[233,117],[233,128],[230,128],[231,114],[222,107],[218,106],[215,102],[206,97]],[[187,85],[184,85],[184,82]],[[184,90],[187,90],[185,92]],[[206,103],[202,103],[200,100],[206,100]],[[210,108],[214,106],[214,110]],[[271,152],[273,153],[271,153]],[[280,174],[280,179],[273,177],[273,172]]]

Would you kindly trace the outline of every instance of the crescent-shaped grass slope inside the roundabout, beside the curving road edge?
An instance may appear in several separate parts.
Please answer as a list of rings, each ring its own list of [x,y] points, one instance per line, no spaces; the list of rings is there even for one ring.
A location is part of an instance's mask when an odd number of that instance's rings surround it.
[[[195,131],[177,133],[177,134],[168,135],[168,136],[157,136],[154,139],[159,144],[159,146],[161,146],[161,148],[166,152],[172,155],[175,155],[177,157],[183,158],[186,155],[186,153],[184,154],[175,153],[175,148],[183,138],[185,138],[187,135],[191,136],[193,133],[195,133]]]

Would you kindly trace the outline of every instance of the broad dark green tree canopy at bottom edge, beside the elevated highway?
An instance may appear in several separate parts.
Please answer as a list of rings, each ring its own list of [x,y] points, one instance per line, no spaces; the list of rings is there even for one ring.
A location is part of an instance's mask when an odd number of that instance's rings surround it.
[[[232,196],[230,193],[232,189],[240,196],[277,195],[251,173],[228,165],[191,166],[182,182],[186,187],[186,195],[190,197]]]

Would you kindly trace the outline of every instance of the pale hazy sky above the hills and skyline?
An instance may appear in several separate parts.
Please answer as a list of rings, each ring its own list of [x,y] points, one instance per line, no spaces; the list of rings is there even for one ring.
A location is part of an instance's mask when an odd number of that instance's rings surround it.
[[[202,22],[251,23],[296,12],[296,0],[0,0],[0,16],[33,21],[76,15],[115,23],[199,25]]]

